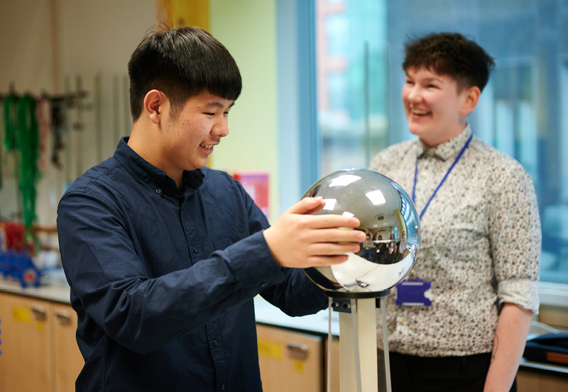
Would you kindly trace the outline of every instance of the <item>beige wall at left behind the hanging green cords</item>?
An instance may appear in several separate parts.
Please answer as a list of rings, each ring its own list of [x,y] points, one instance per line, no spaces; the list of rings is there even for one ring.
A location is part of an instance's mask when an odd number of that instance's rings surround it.
[[[36,203],[40,225],[55,225],[57,204],[66,183],[110,157],[118,139],[129,135],[132,122],[126,64],[155,20],[154,0],[0,2],[0,91],[6,93],[10,82],[15,82],[18,93],[75,91],[80,77],[82,89],[88,93],[83,102],[81,133],[72,130],[72,124],[79,120],[77,111],[68,111],[65,149],[60,154],[62,169],[50,163],[50,147],[43,156],[45,167]],[[50,146],[52,139],[46,142]],[[3,158],[7,164],[2,165],[0,213],[5,218],[16,211],[17,191],[13,161]]]

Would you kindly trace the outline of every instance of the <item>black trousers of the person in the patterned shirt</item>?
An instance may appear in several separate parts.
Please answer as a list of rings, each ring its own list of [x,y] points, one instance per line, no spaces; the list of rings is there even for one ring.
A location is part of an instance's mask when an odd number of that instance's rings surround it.
[[[378,350],[377,354],[381,386],[384,353]],[[415,357],[391,352],[389,359],[393,392],[483,392],[491,353],[468,357]],[[384,374],[382,376],[384,378]],[[515,379],[510,392],[516,391]]]

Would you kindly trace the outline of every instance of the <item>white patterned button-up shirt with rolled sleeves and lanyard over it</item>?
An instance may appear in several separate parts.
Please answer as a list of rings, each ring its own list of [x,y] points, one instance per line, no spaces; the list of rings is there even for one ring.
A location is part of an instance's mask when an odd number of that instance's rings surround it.
[[[420,140],[388,147],[375,170],[413,193],[420,214],[471,136],[469,125],[429,149]],[[387,297],[388,347],[421,357],[491,352],[499,303],[538,312],[540,218],[529,174],[473,138],[421,220],[415,278],[432,282],[432,306],[395,306]],[[377,313],[378,346],[383,348]]]

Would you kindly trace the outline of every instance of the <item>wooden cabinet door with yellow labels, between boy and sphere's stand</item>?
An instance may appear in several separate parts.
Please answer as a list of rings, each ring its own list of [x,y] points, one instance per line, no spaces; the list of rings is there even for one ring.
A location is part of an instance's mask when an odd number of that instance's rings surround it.
[[[256,332],[263,391],[323,391],[321,337],[265,325]]]

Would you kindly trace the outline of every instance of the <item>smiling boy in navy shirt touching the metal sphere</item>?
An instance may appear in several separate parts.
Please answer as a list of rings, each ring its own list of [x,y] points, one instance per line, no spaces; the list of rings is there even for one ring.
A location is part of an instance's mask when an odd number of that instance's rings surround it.
[[[77,391],[261,391],[253,297],[290,315],[324,308],[287,267],[343,262],[365,235],[337,228],[359,220],[310,215],[322,200],[305,198],[269,228],[237,181],[204,167],[241,93],[206,31],[151,33],[129,76],[130,138],[58,208],[85,360]]]

